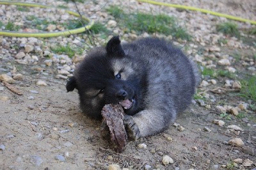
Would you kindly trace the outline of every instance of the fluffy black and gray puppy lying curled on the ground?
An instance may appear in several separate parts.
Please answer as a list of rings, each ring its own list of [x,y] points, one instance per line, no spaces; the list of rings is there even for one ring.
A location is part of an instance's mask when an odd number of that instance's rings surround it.
[[[81,108],[94,118],[100,118],[105,104],[134,98],[132,108],[125,111],[127,131],[136,131],[134,139],[163,132],[191,103],[200,81],[197,68],[164,40],[143,38],[122,45],[118,40],[113,37],[106,49],[88,54],[67,89],[78,89]],[[117,73],[121,79],[115,78]],[[120,90],[125,91],[123,99],[116,95]]]

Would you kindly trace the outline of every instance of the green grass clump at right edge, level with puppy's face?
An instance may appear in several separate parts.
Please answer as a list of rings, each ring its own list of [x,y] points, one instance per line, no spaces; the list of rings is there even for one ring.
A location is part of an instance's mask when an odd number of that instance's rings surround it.
[[[256,102],[256,75],[241,81],[241,96]]]

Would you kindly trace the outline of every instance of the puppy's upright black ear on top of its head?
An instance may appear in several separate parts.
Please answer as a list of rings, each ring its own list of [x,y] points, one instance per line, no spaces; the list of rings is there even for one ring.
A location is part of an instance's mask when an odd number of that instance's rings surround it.
[[[125,53],[120,44],[119,36],[113,36],[106,46],[108,56],[124,57]]]

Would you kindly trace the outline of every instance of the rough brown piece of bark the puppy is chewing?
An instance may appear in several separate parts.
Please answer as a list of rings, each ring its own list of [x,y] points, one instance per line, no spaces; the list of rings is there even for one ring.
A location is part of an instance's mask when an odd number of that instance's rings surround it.
[[[124,110],[120,104],[106,104],[101,111],[103,121],[109,127],[111,141],[118,145],[118,151],[125,148],[127,134],[124,127]]]

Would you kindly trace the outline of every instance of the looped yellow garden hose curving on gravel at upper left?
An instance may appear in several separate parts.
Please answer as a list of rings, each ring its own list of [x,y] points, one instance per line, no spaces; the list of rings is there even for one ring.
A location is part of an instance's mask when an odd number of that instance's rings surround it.
[[[0,1],[0,4],[15,4],[18,6],[29,6],[29,7],[40,7],[40,8],[54,8],[52,6],[46,6],[43,4],[32,4],[32,3],[18,3],[18,2],[9,2],[9,1]],[[63,8],[59,8],[63,9]],[[66,13],[70,15],[74,15],[75,17],[80,17],[79,13],[72,12],[70,10],[65,10]],[[83,16],[82,16],[83,17]],[[52,36],[67,36],[67,35],[73,35],[77,33],[83,33],[84,31],[90,29],[92,27],[93,22],[87,19],[86,17],[83,17],[83,19],[87,20],[89,24],[87,26],[79,27],[77,29],[71,29],[67,31],[58,31],[58,32],[42,32],[42,33],[18,33],[13,31],[0,31],[0,36],[19,36],[19,37],[52,37]]]

